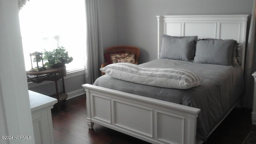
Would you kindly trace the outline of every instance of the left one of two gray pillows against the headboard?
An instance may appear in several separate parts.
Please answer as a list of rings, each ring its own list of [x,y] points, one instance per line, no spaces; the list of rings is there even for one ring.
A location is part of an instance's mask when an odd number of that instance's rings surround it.
[[[159,58],[192,61],[198,36],[162,36]]]

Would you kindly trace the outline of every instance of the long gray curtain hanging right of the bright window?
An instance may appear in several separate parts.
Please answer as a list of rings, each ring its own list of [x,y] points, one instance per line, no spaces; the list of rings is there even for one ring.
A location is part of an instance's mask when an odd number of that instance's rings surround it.
[[[103,50],[98,36],[97,0],[86,1],[87,47],[85,56],[85,82],[92,84],[99,76]]]

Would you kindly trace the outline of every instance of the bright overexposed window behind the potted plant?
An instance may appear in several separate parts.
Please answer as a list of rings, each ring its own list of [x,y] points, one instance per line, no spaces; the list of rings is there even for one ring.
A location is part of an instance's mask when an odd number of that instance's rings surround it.
[[[26,70],[30,53],[63,46],[74,60],[67,71],[84,68],[86,16],[84,0],[30,0],[20,10],[20,29]]]

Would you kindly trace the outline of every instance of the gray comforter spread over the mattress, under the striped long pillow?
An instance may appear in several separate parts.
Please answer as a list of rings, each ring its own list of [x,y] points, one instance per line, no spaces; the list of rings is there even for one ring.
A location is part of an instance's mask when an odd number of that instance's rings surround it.
[[[188,90],[160,88],[135,84],[104,75],[94,85],[200,108],[197,137],[206,141],[208,135],[238,102],[244,92],[241,66],[200,64],[180,60],[156,59],[141,64],[148,68],[182,68],[198,74],[204,81]]]

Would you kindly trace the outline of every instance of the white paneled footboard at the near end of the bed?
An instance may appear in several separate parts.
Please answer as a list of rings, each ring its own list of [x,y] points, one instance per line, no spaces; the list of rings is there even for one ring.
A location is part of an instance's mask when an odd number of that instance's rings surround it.
[[[97,123],[156,144],[196,144],[200,109],[91,84],[86,90],[87,124]]]

